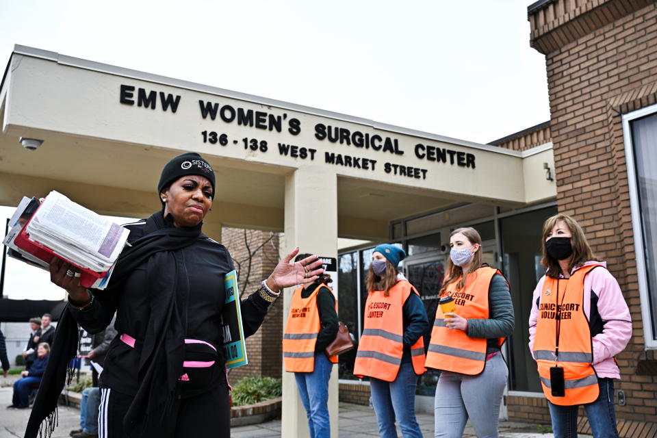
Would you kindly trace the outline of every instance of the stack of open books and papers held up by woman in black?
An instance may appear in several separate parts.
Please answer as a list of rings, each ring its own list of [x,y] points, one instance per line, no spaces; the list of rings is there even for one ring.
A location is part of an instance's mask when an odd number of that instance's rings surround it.
[[[129,231],[90,209],[50,192],[43,203],[24,197],[3,244],[8,255],[48,269],[53,257],[79,268],[81,285],[104,289]]]

